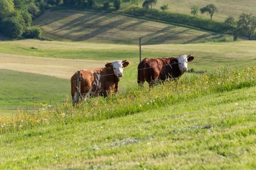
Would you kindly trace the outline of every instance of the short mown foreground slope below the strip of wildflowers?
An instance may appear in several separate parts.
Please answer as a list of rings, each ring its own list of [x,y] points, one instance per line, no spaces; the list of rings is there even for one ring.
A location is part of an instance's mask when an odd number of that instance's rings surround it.
[[[255,169],[255,92],[216,93],[102,121],[21,125],[0,135],[0,169]]]

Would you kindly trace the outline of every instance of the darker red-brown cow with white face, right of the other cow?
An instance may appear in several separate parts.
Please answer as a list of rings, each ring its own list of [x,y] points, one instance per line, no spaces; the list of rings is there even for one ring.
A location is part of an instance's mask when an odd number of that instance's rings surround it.
[[[187,71],[188,62],[194,59],[194,57],[190,55],[171,58],[143,59],[138,65],[138,84],[143,86],[143,83],[147,81],[149,86],[152,86],[155,85],[156,82],[168,78],[180,77]]]

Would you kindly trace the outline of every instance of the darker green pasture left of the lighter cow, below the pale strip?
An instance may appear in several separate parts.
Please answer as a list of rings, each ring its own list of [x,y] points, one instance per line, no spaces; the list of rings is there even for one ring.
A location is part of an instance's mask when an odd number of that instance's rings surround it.
[[[70,95],[70,81],[39,74],[0,70],[0,113],[59,105]]]

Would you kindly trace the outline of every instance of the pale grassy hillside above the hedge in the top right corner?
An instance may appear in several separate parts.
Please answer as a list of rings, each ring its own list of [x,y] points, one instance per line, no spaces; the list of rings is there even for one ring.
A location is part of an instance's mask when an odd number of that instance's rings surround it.
[[[213,20],[224,21],[228,16],[233,16],[236,19],[241,13],[256,14],[255,0],[159,0],[154,8],[160,8],[163,4],[169,4],[169,10],[172,12],[190,14],[190,8],[194,5],[200,8],[207,4],[213,3],[219,9],[218,14],[213,15]],[[207,14],[200,14],[201,17],[207,17]]]

